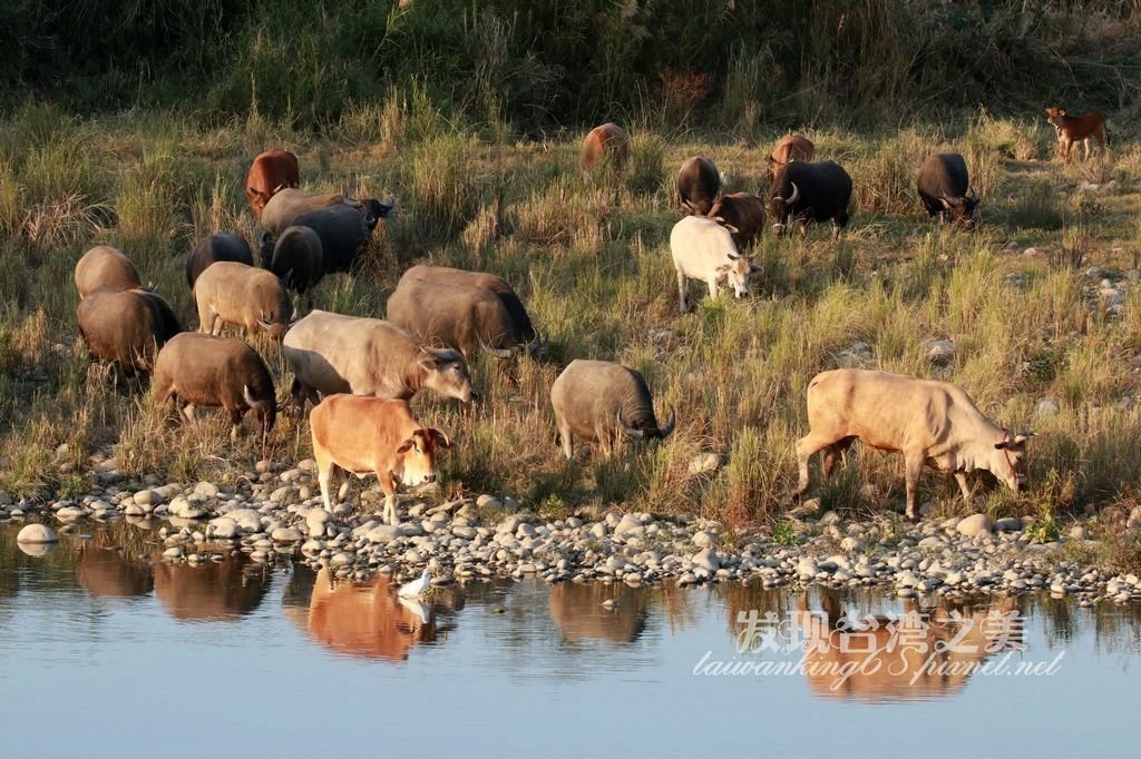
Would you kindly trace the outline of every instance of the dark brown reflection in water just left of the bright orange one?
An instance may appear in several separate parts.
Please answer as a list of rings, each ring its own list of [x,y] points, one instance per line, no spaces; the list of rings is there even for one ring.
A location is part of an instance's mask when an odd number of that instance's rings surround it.
[[[243,561],[191,566],[168,564],[155,556],[153,568],[154,593],[179,620],[238,619],[257,609],[268,589],[264,571]]]

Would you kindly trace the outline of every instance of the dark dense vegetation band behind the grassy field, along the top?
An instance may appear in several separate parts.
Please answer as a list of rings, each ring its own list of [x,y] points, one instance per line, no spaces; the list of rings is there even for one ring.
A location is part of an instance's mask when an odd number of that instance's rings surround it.
[[[420,89],[526,132],[604,112],[751,132],[1044,100],[1135,112],[1139,28],[1138,0],[10,0],[0,85],[302,128]]]

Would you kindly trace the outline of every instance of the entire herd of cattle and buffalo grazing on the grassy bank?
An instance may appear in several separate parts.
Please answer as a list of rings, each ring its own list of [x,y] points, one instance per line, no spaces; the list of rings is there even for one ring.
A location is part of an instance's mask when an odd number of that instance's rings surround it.
[[[1059,152],[1090,137],[1104,149],[1104,117],[1068,116],[1047,109]],[[614,123],[583,140],[584,174],[621,168],[630,140]],[[678,173],[679,201],[690,215],[678,221],[670,247],[678,297],[688,308],[690,279],[718,297],[722,285],[738,297],[748,294],[758,267],[751,248],[766,221],[777,232],[794,223],[807,235],[812,221],[832,221],[833,238],[849,219],[852,181],[832,161],[814,161],[814,144],[802,134],[782,139],[768,158],[767,199],[752,193],[720,194],[721,174],[705,156],[685,161]],[[107,361],[130,378],[153,374],[154,402],[172,403],[194,418],[199,406],[221,407],[237,435],[246,411],[260,424],[262,446],[281,410],[265,360],[241,340],[222,337],[225,325],[245,335],[267,333],[281,345],[293,374],[290,400],[309,422],[324,504],[332,506],[338,471],[375,473],[385,492],[385,516],[397,520],[397,487],[436,478],[435,457],[452,440],[422,426],[408,400],[428,389],[464,403],[478,399],[469,362],[480,353],[496,360],[536,354],[543,342],[518,294],[494,274],[413,266],[400,277],[387,305],[387,319],[313,308],[313,287],[333,272],[353,272],[372,231],[393,203],[298,189],[297,157],[285,150],[258,155],[245,194],[265,228],[260,268],[249,243],[221,232],[200,240],[186,261],[186,279],[199,316],[199,330],[183,333],[173,309],[120,251],[100,245],[75,266],[80,333],[94,359]],[[920,166],[917,191],[923,207],[941,221],[973,229],[979,203],[966,162],[957,153],[932,153]],[[298,318],[290,293],[305,296],[308,312]],[[610,361],[576,359],[550,389],[563,451],[574,455],[574,439],[609,443],[616,435],[664,439],[677,418],[661,425],[641,374]],[[954,474],[964,499],[966,474],[985,470],[1011,489],[1026,483],[1029,433],[1012,433],[987,419],[970,397],[947,383],[883,372],[837,369],[817,375],[808,389],[809,433],[796,442],[800,479],[809,485],[809,459],[824,452],[823,475],[856,440],[903,454],[907,514],[915,516],[915,489],[924,464]],[[340,492],[343,498],[343,489]]]

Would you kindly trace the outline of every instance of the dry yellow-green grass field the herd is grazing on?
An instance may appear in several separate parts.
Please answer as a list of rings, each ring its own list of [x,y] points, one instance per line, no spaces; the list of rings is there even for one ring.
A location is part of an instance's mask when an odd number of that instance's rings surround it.
[[[524,361],[517,387],[477,362],[487,394],[477,414],[428,395],[415,401],[421,419],[459,442],[443,462],[448,491],[509,493],[560,512],[609,504],[689,512],[731,527],[779,519],[795,483],[808,382],[852,361],[954,382],[996,422],[1038,432],[1030,492],[995,493],[987,508],[1111,506],[1141,481],[1141,413],[1131,407],[1141,390],[1131,365],[1141,353],[1141,294],[1131,284],[1123,316],[1107,317],[1098,281],[1084,276],[1091,266],[1125,272],[1141,259],[1141,154],[1127,142],[1116,145],[1112,191],[1075,205],[1081,179],[1045,160],[1044,124],[982,115],[891,132],[806,126],[819,156],[856,181],[844,239],[834,245],[818,226],[807,240],[766,236],[752,299],[710,302],[695,285],[697,308],[679,315],[667,242],[679,219],[673,172],[704,154],[735,183],[759,189],[768,147],[785,130],[759,121],[730,138],[632,129],[625,172],[584,183],[573,136],[517,141],[486,124],[448,123],[418,91],[389,98],[343,116],[326,137],[289,121],[202,126],[162,112],[80,121],[27,108],[0,123],[0,489],[74,492],[75,473],[98,452],[130,475],[183,481],[234,481],[261,458],[252,435],[229,442],[222,415],[185,425],[154,409],[146,392],[112,389],[106,373],[89,368],[71,276],[88,247],[120,245],[195,327],[185,255],[202,235],[258,232],[241,187],[250,156],[269,144],[298,153],[307,188],[398,202],[369,266],[326,278],[319,308],[381,317],[403,269],[428,260],[504,276],[548,335],[551,359]],[[974,235],[939,229],[913,196],[917,163],[937,148],[961,149],[980,168],[985,215]],[[49,223],[46,209],[65,202],[75,213]],[[1068,252],[1078,247],[1079,264]],[[940,368],[925,345],[944,338],[956,351]],[[853,351],[857,342],[866,351]],[[567,464],[548,389],[559,365],[577,357],[639,368],[658,413],[677,408],[674,435],[609,455],[583,447]],[[290,377],[280,358],[269,361],[284,397]],[[1046,397],[1060,413],[1036,418]],[[703,451],[725,465],[690,473]],[[268,452],[310,456],[307,423],[281,415]],[[901,460],[853,448],[814,495],[827,507],[857,507],[865,483],[882,496],[876,503],[900,500]],[[949,478],[924,472],[921,503],[954,511],[956,493]]]

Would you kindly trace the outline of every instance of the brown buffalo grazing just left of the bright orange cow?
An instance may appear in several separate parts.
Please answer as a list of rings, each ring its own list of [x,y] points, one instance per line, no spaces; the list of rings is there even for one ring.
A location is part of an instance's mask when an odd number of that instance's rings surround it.
[[[154,365],[154,402],[173,402],[188,422],[197,406],[225,408],[237,430],[245,413],[252,410],[261,424],[261,446],[277,418],[274,379],[257,351],[240,340],[186,332],[176,335]]]

